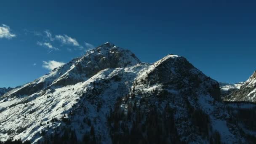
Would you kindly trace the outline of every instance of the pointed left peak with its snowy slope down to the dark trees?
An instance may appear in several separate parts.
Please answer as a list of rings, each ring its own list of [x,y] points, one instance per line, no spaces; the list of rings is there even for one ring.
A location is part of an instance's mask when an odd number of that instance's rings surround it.
[[[128,92],[139,70],[147,65],[139,63],[131,51],[105,43],[43,77],[13,89],[0,99],[0,139],[13,137],[32,142],[43,139],[40,132],[53,133],[53,130],[65,125],[61,118],[75,111],[74,105],[78,102],[79,109],[87,109],[86,119],[104,121],[107,109],[114,105],[116,97]],[[72,83],[60,83],[66,79]],[[92,95],[99,98],[97,103],[102,102],[102,111],[97,112],[94,102],[89,102],[95,100],[90,97]],[[80,126],[84,115],[72,117],[72,128]],[[95,122],[95,126],[106,127],[104,124]],[[77,132],[80,140],[81,133],[88,131],[88,128]],[[105,137],[108,136],[107,129],[102,132]],[[109,137],[103,139],[106,143],[111,141]]]

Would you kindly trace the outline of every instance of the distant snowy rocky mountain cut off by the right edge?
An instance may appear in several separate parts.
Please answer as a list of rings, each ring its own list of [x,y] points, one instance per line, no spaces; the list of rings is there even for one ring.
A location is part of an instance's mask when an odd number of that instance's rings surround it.
[[[256,102],[256,71],[241,85],[240,89],[225,96],[224,101]]]

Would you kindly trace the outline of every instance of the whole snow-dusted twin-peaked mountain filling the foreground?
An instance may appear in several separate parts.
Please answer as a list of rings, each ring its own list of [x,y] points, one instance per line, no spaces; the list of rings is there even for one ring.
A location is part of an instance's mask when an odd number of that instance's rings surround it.
[[[0,140],[248,143],[219,83],[182,56],[153,64],[112,43],[0,97]]]

